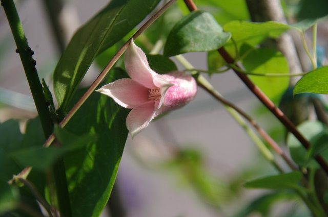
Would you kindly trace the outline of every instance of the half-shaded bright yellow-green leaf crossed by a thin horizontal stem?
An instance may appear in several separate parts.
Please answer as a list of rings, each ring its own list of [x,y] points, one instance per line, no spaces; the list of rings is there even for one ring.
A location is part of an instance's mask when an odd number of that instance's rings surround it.
[[[289,66],[285,57],[278,51],[267,48],[256,49],[243,61],[247,71],[257,74],[288,74]],[[289,77],[249,76],[250,79],[273,101],[278,101],[288,88]]]

